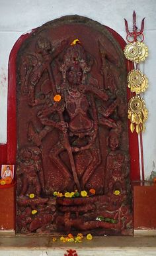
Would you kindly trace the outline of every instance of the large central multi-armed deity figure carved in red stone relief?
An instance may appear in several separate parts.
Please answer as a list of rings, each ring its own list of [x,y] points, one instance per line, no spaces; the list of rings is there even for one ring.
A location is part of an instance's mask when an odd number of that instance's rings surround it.
[[[69,190],[74,188],[81,190],[85,188],[89,178],[100,164],[98,125],[116,127],[115,121],[109,116],[116,109],[119,100],[114,100],[108,105],[107,111],[98,117],[95,98],[100,102],[108,101],[108,95],[97,85],[95,86],[94,80],[89,78],[93,58],[85,52],[79,41],[67,47],[61,55],[63,57],[59,62],[59,70],[63,81],[59,86],[54,84],[50,66],[45,65],[51,78],[54,99],[50,96],[49,103],[45,103],[44,107],[38,111],[38,119],[44,125],[44,129],[36,134],[30,123],[28,136],[40,145],[43,137],[54,127],[60,131],[58,143],[52,147],[49,157],[65,174],[65,178],[69,179]],[[32,77],[34,77],[33,72]],[[34,92],[32,95],[34,96]],[[54,113],[58,113],[57,121],[52,118]],[[65,150],[69,157],[70,168],[67,168],[60,158],[60,154]],[[86,158],[89,158],[87,165]]]

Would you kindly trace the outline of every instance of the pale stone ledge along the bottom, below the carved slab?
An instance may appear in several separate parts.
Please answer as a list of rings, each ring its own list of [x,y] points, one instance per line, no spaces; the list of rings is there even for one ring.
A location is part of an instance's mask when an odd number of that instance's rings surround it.
[[[0,256],[64,256],[69,249],[78,256],[152,256],[156,237],[93,237],[82,243],[53,242],[52,237],[0,237]]]

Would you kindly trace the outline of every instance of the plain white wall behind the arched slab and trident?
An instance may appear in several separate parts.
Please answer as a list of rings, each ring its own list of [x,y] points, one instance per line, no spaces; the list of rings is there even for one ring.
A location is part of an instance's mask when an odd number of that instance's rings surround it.
[[[137,25],[145,17],[145,40],[149,57],[145,74],[149,89],[145,101],[149,119],[143,134],[145,176],[148,178],[153,160],[156,163],[156,1],[155,0],[0,0],[0,143],[7,142],[7,67],[9,53],[21,34],[64,15],[82,15],[111,27],[126,38],[124,18],[132,28],[136,10]]]

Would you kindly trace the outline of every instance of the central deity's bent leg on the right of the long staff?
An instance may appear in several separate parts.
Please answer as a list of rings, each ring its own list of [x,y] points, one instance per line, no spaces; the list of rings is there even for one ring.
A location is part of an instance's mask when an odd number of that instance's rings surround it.
[[[81,179],[81,184],[83,189],[85,188],[85,184],[93,174],[94,170],[97,168],[98,164],[100,164],[100,152],[98,149],[91,149],[92,161],[87,166],[85,173],[83,174],[83,178]]]

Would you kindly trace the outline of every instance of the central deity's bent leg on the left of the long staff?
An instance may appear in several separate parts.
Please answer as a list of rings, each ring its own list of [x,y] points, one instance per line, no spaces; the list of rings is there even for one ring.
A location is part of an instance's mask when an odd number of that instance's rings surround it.
[[[71,178],[73,180],[72,174],[69,172],[69,170],[67,170],[67,167],[65,166],[65,164],[63,164],[62,160],[59,157],[59,154],[61,152],[63,152],[64,150],[65,150],[65,148],[63,147],[63,145],[60,142],[58,142],[51,149],[51,151],[49,153],[49,157],[56,164],[56,166],[59,168],[59,170],[63,171],[68,178]]]

